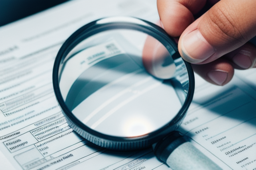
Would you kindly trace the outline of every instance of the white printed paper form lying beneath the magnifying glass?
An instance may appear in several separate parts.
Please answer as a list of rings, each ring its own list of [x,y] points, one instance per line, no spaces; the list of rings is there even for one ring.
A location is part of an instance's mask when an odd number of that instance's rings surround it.
[[[0,170],[169,170],[151,149],[113,152],[68,126],[52,88],[61,44],[95,19],[127,15],[155,23],[155,0],[74,0],[0,27]],[[224,170],[256,170],[256,70],[224,87],[196,75],[179,131]],[[185,161],[185,160],[184,160]]]

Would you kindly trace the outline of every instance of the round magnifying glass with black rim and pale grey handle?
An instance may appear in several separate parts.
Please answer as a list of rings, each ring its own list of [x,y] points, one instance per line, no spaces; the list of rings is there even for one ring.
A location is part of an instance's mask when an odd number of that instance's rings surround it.
[[[172,38],[153,23],[110,17],[81,27],[57,54],[53,87],[69,126],[100,147],[154,145],[166,163],[187,143],[175,130],[192,101],[194,74]],[[200,164],[215,167],[207,161]]]

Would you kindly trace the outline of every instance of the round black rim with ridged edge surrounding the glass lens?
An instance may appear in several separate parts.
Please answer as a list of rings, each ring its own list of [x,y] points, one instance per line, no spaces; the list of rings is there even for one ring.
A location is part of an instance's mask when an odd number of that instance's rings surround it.
[[[109,19],[109,18],[108,18]],[[126,21],[128,19],[128,21]],[[132,22],[131,21],[138,21]],[[66,120],[71,128],[73,128],[76,133],[87,139],[88,141],[100,146],[105,147],[111,150],[119,150],[119,151],[128,151],[128,150],[137,150],[143,149],[145,147],[150,147],[153,143],[156,143],[158,140],[162,139],[165,135],[169,132],[176,130],[181,123],[181,120],[184,118],[189,105],[192,102],[194,89],[195,89],[195,79],[194,73],[192,70],[192,66],[190,63],[184,61],[185,66],[188,71],[188,79],[189,79],[189,88],[188,88],[188,95],[184,101],[184,104],[180,111],[177,113],[174,119],[172,119],[168,124],[164,127],[153,131],[149,134],[138,136],[138,137],[116,137],[105,135],[100,132],[94,131],[91,128],[88,128],[82,122],[80,122],[72,112],[67,108],[60,93],[59,88],[59,76],[61,72],[61,64],[64,61],[67,54],[81,41],[99,33],[101,31],[107,31],[111,29],[131,29],[136,31],[144,32],[148,35],[159,40],[163,43],[164,46],[168,50],[174,50],[177,52],[177,45],[175,41],[159,26],[150,23],[148,21],[137,19],[133,17],[115,17],[110,18],[110,22],[107,23],[100,23],[103,19],[98,19],[91,23],[88,23],[75,31],[61,46],[55,62],[53,66],[53,73],[52,73],[52,82],[53,82],[53,89],[56,95],[56,99],[58,100],[60,107],[66,117]],[[140,24],[142,22],[142,24]],[[99,24],[100,23],[100,24]]]

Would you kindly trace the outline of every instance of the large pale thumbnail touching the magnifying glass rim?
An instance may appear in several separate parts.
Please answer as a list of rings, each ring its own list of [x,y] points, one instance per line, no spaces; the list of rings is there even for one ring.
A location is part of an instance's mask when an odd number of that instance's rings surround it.
[[[203,62],[216,51],[197,29],[183,37],[181,50],[184,59],[192,63]]]

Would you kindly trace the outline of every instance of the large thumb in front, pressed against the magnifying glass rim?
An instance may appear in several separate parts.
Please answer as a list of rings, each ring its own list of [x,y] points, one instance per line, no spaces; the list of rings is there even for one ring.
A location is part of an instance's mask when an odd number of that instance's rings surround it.
[[[189,25],[178,48],[191,63],[212,62],[256,35],[256,0],[221,0]]]

